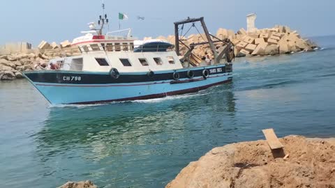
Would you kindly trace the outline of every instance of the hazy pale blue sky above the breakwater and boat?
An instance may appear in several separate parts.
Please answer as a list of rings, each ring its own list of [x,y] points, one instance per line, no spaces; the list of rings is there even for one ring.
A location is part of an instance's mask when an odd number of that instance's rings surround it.
[[[80,36],[87,23],[96,22],[101,14],[101,0],[0,0],[0,45],[27,41],[38,45],[41,40],[61,42]],[[110,30],[119,28],[118,13],[129,17],[122,28],[133,28],[133,36],[168,36],[173,22],[186,17],[204,17],[211,33],[220,27],[237,31],[246,28],[246,15],[256,13],[258,28],[275,24],[290,26],[302,36],[335,34],[333,0],[105,0]],[[145,17],[138,20],[137,16]],[[188,28],[187,28],[188,29]],[[196,33],[195,30],[191,33]]]

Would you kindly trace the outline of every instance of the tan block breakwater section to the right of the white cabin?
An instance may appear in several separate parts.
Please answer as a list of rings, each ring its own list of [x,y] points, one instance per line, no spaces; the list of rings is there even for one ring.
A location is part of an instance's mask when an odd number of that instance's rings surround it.
[[[248,33],[245,29],[239,29],[237,33],[228,29],[218,29],[216,38],[211,39],[224,40],[229,38],[234,44],[234,54],[237,57],[241,56],[267,56],[278,54],[292,54],[295,52],[313,52],[318,49],[318,45],[311,40],[301,38],[297,31],[292,31],[288,26],[274,26],[270,29],[256,29],[255,32]],[[144,38],[148,40],[151,38]],[[174,36],[159,36],[159,40],[167,40],[174,44]],[[188,37],[181,37],[180,47],[181,54],[185,54],[188,48],[185,45],[192,43],[200,43],[207,41],[204,34],[191,34]],[[184,44],[185,45],[184,45]],[[216,43],[216,49],[222,45]],[[204,58],[207,54],[210,58],[214,58],[213,52],[209,45],[197,45],[193,50],[193,54],[200,58]]]

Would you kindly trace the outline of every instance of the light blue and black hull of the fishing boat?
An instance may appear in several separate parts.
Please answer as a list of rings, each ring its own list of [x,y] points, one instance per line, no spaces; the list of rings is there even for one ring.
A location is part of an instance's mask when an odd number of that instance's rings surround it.
[[[204,68],[193,68],[187,69],[195,72],[192,78],[185,77],[186,70],[178,70],[181,76],[177,80],[170,77],[173,72],[156,72],[149,81],[146,72],[121,73],[119,79],[108,78],[107,81],[103,78],[110,77],[108,73],[97,72],[49,71],[25,72],[24,75],[51,104],[96,104],[193,93],[232,81],[232,73],[225,72],[224,66],[206,69],[211,71],[208,77],[199,73]]]

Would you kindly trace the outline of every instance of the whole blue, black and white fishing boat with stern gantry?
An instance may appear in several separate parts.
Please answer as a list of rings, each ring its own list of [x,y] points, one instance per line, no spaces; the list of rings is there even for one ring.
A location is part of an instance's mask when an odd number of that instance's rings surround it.
[[[194,22],[201,22],[208,41],[192,44],[181,54],[179,26]],[[51,104],[146,100],[198,92],[232,81],[232,42],[213,40],[215,36],[207,31],[203,17],[175,22],[175,45],[161,40],[134,45],[138,42],[131,29],[103,33],[107,23],[107,15],[100,16],[100,29],[91,23],[90,31],[73,40],[72,46],[80,49],[79,56],[52,59],[48,70],[24,72],[24,76]],[[118,34],[122,32],[126,34]],[[217,42],[223,42],[221,49],[216,49]],[[214,52],[210,64],[195,62],[192,54],[196,45],[205,43]]]

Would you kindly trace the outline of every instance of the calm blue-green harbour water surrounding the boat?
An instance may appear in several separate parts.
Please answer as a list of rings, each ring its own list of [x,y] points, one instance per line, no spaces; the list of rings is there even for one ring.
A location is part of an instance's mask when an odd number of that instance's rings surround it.
[[[335,37],[319,52],[239,58],[232,84],[191,95],[56,106],[26,80],[0,83],[0,184],[165,187],[216,146],[278,136],[335,136]]]

